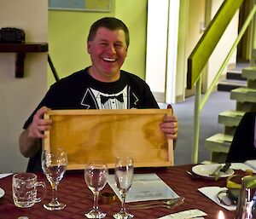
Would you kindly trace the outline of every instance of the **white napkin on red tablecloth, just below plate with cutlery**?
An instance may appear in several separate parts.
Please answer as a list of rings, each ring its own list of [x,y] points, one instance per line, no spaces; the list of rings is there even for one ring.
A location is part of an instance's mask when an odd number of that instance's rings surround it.
[[[226,209],[226,210],[236,210],[236,205],[227,206],[227,205],[223,205],[219,202],[219,200],[217,198],[217,195],[220,191],[223,191],[225,189],[227,189],[227,188],[226,187],[200,187],[200,188],[198,188],[198,190],[201,193],[206,195],[209,199],[214,201],[216,204],[222,206],[224,209]]]

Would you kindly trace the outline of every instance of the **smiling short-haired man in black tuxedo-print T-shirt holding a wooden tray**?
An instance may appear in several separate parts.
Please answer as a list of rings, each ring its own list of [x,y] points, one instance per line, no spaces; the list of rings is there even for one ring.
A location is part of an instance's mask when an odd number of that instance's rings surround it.
[[[148,84],[121,70],[130,43],[127,26],[105,17],[91,27],[87,52],[91,66],[53,84],[44,99],[26,120],[20,134],[20,153],[30,158],[27,171],[41,169],[42,139],[51,121],[44,119],[51,109],[131,109],[159,108]],[[157,72],[156,72],[157,73]],[[160,129],[167,138],[177,138],[177,118],[166,117]]]

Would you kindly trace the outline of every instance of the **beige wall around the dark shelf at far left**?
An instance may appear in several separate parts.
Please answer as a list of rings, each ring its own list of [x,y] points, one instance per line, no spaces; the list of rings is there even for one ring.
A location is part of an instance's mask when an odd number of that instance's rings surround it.
[[[26,42],[46,42],[47,0],[1,0],[0,28],[18,27]],[[15,78],[15,54],[0,53],[0,172],[25,171],[18,139],[22,126],[47,89],[47,53],[29,53],[24,78]]]

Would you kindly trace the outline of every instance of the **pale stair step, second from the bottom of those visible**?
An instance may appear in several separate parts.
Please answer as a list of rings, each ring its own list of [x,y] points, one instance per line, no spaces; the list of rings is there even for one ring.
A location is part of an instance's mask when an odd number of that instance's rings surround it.
[[[224,126],[237,126],[245,112],[236,110],[227,110],[218,114],[218,123]]]

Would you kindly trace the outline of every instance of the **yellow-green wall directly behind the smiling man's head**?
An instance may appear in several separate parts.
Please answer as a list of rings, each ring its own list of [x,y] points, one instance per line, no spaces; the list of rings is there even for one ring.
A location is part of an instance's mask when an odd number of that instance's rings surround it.
[[[90,65],[86,38],[90,25],[105,16],[125,22],[131,44],[123,69],[145,78],[147,0],[115,0],[110,13],[49,10],[49,55],[60,78]],[[55,78],[48,68],[48,85]]]

